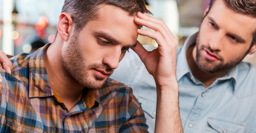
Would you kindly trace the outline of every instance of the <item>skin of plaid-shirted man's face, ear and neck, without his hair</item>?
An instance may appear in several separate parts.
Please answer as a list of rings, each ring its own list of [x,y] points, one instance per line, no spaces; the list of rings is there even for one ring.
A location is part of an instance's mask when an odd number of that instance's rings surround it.
[[[136,44],[136,30],[140,25],[133,22],[133,16],[109,5],[102,6],[99,14],[100,19],[88,22],[81,32],[74,33],[75,24],[71,17],[62,13],[58,24],[59,34],[46,51],[44,60],[51,86],[68,110],[80,101],[84,87],[99,89],[112,73],[111,69],[116,69],[124,57],[124,47]],[[112,17],[115,15],[119,17]],[[119,43],[114,43],[102,33]],[[77,37],[75,43],[74,36]],[[100,43],[98,39],[109,44]],[[95,64],[100,67],[95,67]]]

